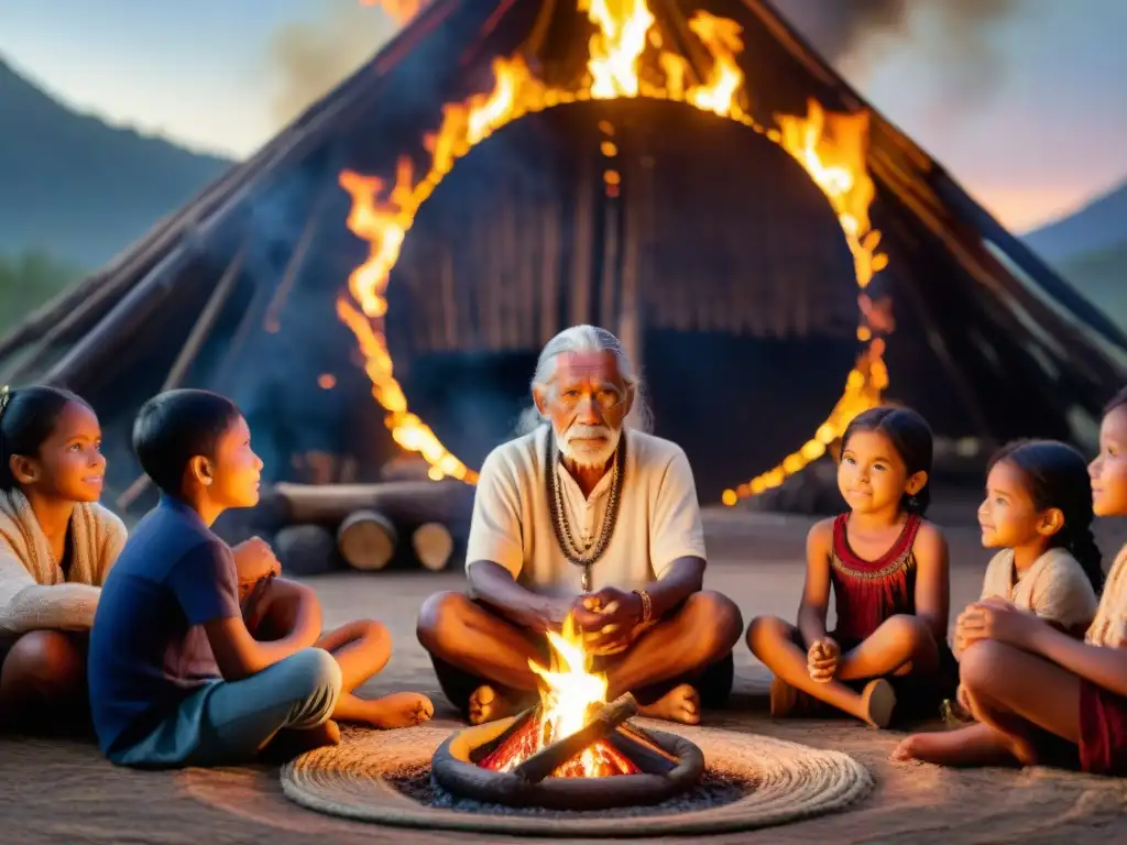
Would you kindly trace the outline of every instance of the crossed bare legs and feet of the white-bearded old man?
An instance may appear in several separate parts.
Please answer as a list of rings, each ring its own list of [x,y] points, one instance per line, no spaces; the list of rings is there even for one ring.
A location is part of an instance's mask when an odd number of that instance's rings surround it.
[[[702,687],[725,686],[708,690],[717,694],[704,697],[727,697],[731,648],[742,631],[731,599],[696,593],[625,651],[600,661],[597,669],[609,681],[607,697],[632,692],[644,714],[694,724],[700,721]],[[535,701],[538,677],[529,660],[547,662],[544,642],[468,596],[431,596],[419,612],[418,638],[446,697],[470,722],[499,719]]]

